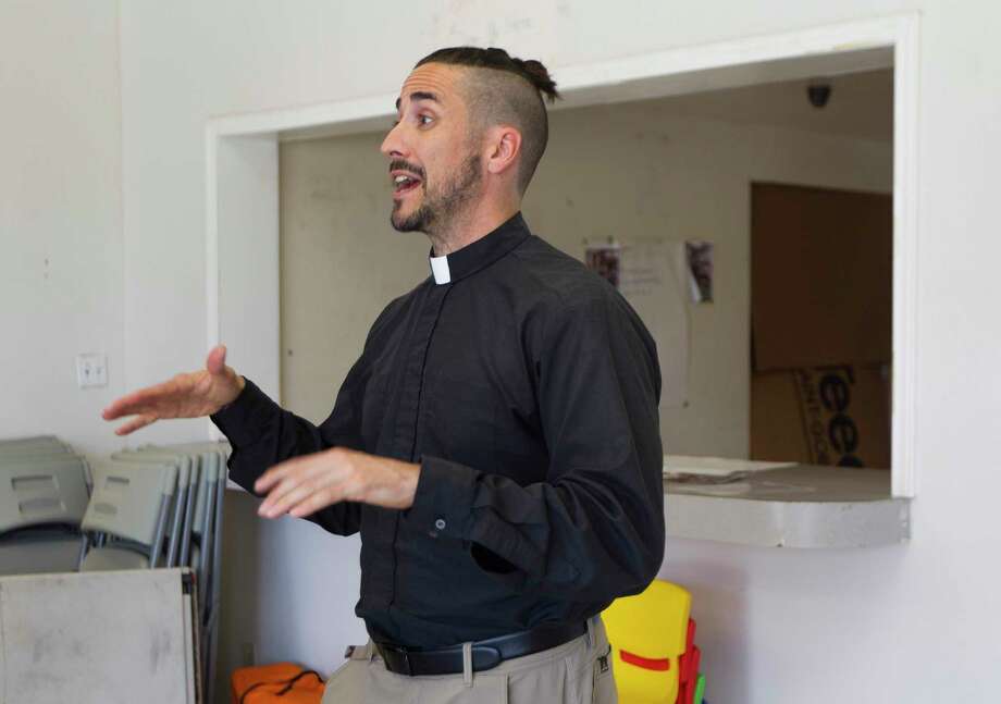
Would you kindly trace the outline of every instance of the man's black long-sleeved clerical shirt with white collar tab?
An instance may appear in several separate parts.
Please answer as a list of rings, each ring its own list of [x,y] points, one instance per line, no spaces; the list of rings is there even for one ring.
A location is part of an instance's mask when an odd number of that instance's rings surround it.
[[[420,464],[407,510],[310,517],[361,531],[356,613],[376,641],[579,622],[641,591],[665,532],[660,372],[643,323],[520,213],[431,264],[375,320],[319,427],[249,381],[213,416],[230,475],[252,491],[272,465],[335,445]]]

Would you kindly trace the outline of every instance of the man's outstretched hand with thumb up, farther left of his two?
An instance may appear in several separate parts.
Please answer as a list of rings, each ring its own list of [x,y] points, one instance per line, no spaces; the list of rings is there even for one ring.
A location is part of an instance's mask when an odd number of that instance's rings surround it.
[[[103,410],[104,420],[134,416],[114,432],[118,435],[145,428],[162,418],[201,418],[232,404],[244,390],[244,378],[226,367],[226,348],[218,345],[206,358],[206,368],[177,374],[170,381],[122,396]]]

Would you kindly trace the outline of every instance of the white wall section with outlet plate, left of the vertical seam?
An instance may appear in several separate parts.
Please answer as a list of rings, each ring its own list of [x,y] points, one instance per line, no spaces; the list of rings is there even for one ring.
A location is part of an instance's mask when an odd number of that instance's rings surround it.
[[[122,131],[113,2],[0,2],[0,437],[121,445]],[[79,390],[75,357],[108,356]]]

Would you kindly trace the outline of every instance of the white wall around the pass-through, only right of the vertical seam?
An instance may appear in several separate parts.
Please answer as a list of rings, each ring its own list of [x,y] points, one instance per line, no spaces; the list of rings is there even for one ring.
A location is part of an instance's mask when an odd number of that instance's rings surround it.
[[[804,0],[767,12],[733,0],[122,3],[127,382],[203,359],[211,116],[394,91],[438,46],[506,46],[540,58],[558,81],[571,64],[900,10],[922,16],[914,538],[816,553],[672,541],[665,575],[694,592],[709,701],[983,700],[1001,687],[990,628],[1001,621],[996,3]],[[144,437],[203,432],[158,425]],[[282,544],[300,565],[335,557],[330,545]],[[321,603],[353,603],[349,581],[331,582]],[[331,631],[346,634],[337,622]]]

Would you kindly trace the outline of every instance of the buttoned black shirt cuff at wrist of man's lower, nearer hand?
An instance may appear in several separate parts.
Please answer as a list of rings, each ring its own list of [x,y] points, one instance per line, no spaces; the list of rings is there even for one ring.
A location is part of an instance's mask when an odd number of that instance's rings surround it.
[[[407,521],[431,538],[468,540],[477,474],[466,465],[424,455]]]

